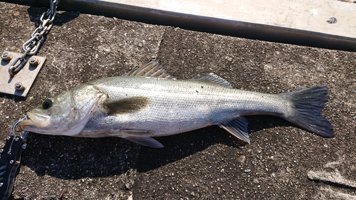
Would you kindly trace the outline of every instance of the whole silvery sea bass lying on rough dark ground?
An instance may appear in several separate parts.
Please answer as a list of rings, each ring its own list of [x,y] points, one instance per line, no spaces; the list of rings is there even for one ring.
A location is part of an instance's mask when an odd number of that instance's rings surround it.
[[[122,137],[149,147],[163,147],[152,137],[175,135],[219,125],[248,139],[246,115],[274,115],[309,132],[333,137],[321,114],[326,87],[266,94],[232,88],[214,73],[175,80],[157,61],[126,75],[101,78],[45,100],[27,112],[23,130],[74,137]]]

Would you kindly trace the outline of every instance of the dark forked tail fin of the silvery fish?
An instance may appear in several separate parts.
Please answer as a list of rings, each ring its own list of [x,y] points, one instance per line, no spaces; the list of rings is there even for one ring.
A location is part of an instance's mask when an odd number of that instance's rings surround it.
[[[328,88],[317,86],[281,95],[290,100],[291,108],[283,118],[316,135],[334,136],[332,125],[320,113],[328,101]]]

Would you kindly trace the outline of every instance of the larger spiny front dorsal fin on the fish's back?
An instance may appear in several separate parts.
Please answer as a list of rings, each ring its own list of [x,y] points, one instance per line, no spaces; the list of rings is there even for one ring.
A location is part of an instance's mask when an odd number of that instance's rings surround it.
[[[140,76],[152,78],[169,78],[174,79],[172,75],[167,73],[162,67],[162,64],[157,60],[152,60],[139,68],[133,68],[129,73],[123,76]]]

